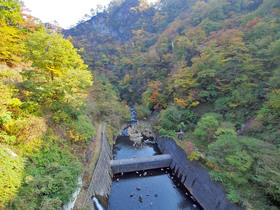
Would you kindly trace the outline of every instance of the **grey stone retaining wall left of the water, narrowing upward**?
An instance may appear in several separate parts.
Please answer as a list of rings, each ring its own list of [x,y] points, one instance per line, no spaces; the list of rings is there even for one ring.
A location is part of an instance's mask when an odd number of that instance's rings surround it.
[[[113,173],[110,165],[110,161],[112,159],[112,148],[107,141],[106,127],[103,124],[101,152],[92,176],[83,209],[87,206],[89,209],[95,209],[92,200],[93,196],[97,197],[101,204],[107,208],[113,179]]]

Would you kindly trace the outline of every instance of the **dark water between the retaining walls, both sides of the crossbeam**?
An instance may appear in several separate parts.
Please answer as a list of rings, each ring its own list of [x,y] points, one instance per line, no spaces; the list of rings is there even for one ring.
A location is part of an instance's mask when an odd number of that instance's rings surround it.
[[[156,144],[134,147],[129,137],[119,137],[114,146],[116,159],[160,154]],[[108,209],[200,209],[170,169],[137,171],[115,175]]]

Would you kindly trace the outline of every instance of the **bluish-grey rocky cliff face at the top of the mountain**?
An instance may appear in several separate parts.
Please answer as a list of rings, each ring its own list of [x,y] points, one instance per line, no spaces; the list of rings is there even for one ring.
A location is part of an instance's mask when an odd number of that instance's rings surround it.
[[[128,0],[120,6],[93,16],[90,20],[77,25],[75,28],[65,30],[64,34],[66,36],[95,34],[110,36],[121,41],[128,40],[133,36],[133,30],[141,29],[144,21],[143,17],[147,19],[149,17],[148,13],[153,13],[152,8],[148,5],[144,7],[137,0]]]

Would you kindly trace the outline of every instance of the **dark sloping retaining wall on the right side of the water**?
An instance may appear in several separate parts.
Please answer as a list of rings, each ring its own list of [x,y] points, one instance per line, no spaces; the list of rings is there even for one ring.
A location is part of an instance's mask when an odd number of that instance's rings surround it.
[[[230,203],[224,187],[212,181],[207,170],[196,161],[190,161],[176,142],[172,139],[157,139],[157,143],[163,154],[172,156],[171,168],[204,209],[243,209]]]

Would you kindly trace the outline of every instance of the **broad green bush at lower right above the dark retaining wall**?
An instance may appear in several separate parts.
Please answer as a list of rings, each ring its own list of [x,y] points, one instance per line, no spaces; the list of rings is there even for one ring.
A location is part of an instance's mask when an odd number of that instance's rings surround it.
[[[219,168],[210,174],[223,183],[229,199],[245,202],[245,196],[239,192],[251,189],[257,183],[262,189],[262,197],[268,196],[279,203],[280,179],[275,173],[280,170],[280,153],[275,146],[255,138],[221,135],[208,149],[208,165],[211,163]]]

